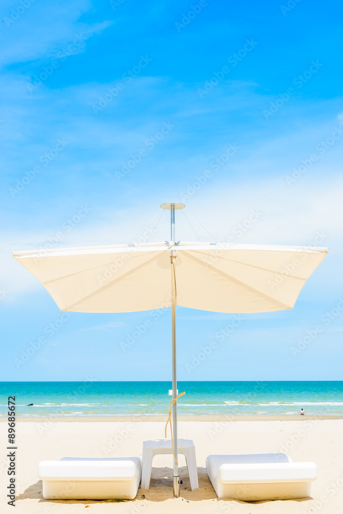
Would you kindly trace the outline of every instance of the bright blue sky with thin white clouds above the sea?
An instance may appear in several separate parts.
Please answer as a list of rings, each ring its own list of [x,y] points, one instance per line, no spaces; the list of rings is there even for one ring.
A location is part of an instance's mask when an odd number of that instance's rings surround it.
[[[5,0],[1,11],[2,379],[171,377],[168,309],[61,321],[11,258],[51,241],[128,243],[165,201],[186,204],[203,241],[330,247],[293,310],[246,315],[223,341],[232,315],[178,308],[179,379],[342,379],[341,4]],[[168,238],[165,214],[151,241]],[[181,214],[177,238],[195,238]]]

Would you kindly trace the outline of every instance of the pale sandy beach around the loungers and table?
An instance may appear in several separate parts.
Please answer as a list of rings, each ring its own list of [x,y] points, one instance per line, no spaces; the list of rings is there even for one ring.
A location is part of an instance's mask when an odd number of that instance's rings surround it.
[[[94,419],[94,418],[93,418]],[[67,514],[84,512],[125,512],[138,514],[172,514],[200,512],[206,514],[294,512],[333,514],[343,512],[343,420],[304,418],[297,420],[221,420],[180,421],[180,438],[193,439],[196,449],[199,488],[191,491],[185,460],[179,456],[183,484],[180,498],[173,498],[172,456],[154,458],[149,490],[138,489],[137,497],[127,502],[45,501],[37,466],[42,460],[59,460],[63,456],[139,456],[142,442],[164,437],[162,421],[81,422],[35,419],[17,423],[17,494],[16,512],[25,514]],[[6,440],[5,423],[0,424]],[[217,453],[286,452],[294,461],[313,461],[318,478],[312,483],[312,498],[288,501],[240,502],[218,500],[207,477],[205,460]],[[3,454],[1,487],[7,487],[8,459]],[[141,495],[145,495],[142,498]],[[2,495],[4,498],[5,495]],[[1,512],[11,512],[4,502]]]

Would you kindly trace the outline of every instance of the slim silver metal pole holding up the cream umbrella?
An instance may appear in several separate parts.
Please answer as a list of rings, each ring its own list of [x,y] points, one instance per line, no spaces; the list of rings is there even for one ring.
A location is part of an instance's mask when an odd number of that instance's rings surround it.
[[[170,234],[171,241],[175,241],[175,205],[170,207]],[[176,252],[172,250],[171,261],[171,291],[172,291],[172,355],[173,355],[173,398],[177,396],[177,380],[176,380],[176,282],[175,282],[175,259]],[[177,459],[177,406],[176,401],[173,405],[173,450]],[[180,484],[178,476],[177,463],[173,462],[173,492],[174,498],[180,495]]]

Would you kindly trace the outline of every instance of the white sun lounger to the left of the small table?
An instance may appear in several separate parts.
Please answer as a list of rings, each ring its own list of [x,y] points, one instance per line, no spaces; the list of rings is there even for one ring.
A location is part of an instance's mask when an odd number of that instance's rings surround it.
[[[45,500],[133,500],[140,482],[141,460],[64,457],[40,462],[38,475]]]

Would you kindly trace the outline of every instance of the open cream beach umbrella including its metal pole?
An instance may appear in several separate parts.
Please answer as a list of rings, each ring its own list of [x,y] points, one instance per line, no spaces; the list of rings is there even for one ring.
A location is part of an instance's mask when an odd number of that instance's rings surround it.
[[[178,203],[170,210],[170,241],[131,245],[16,251],[62,311],[172,311],[173,489],[177,466],[176,305],[220,313],[292,309],[327,248],[192,243],[175,240]]]

